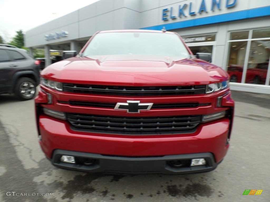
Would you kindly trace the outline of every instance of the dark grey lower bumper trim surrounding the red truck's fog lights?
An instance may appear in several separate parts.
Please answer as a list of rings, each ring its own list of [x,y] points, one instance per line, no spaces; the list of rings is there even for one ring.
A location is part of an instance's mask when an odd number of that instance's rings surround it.
[[[75,159],[90,158],[96,159],[93,165],[83,165],[82,163],[66,163],[61,162],[62,155],[75,156]],[[174,168],[168,163],[174,160],[186,160],[204,158],[206,165],[201,166],[183,166]],[[163,174],[188,174],[208,172],[214,170],[218,163],[215,163],[212,153],[198,154],[180,154],[166,155],[159,157],[123,157],[123,156],[105,156],[100,154],[67,151],[56,149],[53,152],[53,158],[49,159],[52,164],[58,168],[77,170],[92,173],[113,173],[113,174],[147,174],[147,173],[163,173]]]

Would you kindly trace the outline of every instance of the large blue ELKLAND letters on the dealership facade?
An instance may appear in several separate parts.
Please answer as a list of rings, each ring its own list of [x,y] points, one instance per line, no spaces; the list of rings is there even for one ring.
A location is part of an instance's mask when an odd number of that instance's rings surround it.
[[[193,16],[197,13],[208,12],[209,10],[214,11],[216,9],[221,10],[222,1],[225,1],[225,8],[234,7],[237,4],[237,0],[201,0],[198,10],[195,10],[193,2],[189,4],[182,4],[178,6],[178,9],[171,7],[162,10],[162,20],[181,18],[182,16]],[[206,4],[207,2],[208,4]],[[210,4],[209,4],[210,3]]]

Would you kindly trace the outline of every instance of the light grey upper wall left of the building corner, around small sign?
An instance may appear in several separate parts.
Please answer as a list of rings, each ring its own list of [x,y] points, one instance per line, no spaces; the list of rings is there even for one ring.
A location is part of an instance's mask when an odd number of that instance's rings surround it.
[[[97,31],[140,28],[140,1],[100,0],[58,19],[28,30],[26,47],[42,47],[92,36]],[[67,37],[45,40],[45,35],[66,31]]]

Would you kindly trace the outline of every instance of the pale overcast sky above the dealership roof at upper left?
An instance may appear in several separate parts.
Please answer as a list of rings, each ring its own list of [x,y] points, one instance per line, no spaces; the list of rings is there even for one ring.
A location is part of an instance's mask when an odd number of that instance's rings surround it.
[[[9,42],[26,31],[99,0],[0,0],[0,36]]]

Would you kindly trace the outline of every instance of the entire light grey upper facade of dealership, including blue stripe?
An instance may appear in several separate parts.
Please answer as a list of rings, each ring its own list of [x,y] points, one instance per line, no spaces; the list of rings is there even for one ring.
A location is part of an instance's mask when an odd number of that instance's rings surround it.
[[[202,4],[203,2],[205,4]],[[211,10],[213,2],[216,3]],[[227,8],[234,3],[234,6]],[[202,7],[203,5],[205,6]],[[198,26],[198,29],[204,32],[200,25],[215,23],[216,27],[220,22],[269,16],[270,7],[267,6],[270,6],[270,1],[265,0],[100,0],[28,30],[25,44],[26,47],[59,44],[63,41],[89,38],[97,31],[116,29],[161,30],[165,26],[167,30],[175,30]],[[183,8],[181,15],[178,12],[179,7]],[[228,29],[233,26],[238,25],[233,23]],[[62,30],[68,32],[68,37],[49,41],[44,39],[45,35]]]

